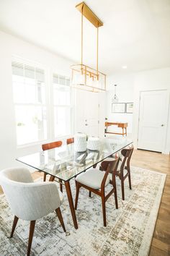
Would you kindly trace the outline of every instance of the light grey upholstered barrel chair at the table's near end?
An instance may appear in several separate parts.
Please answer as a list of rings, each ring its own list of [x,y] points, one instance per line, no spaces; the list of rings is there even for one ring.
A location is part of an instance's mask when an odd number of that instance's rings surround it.
[[[14,222],[10,238],[14,234],[19,218],[30,221],[27,256],[30,255],[35,221],[48,213],[57,214],[63,231],[66,232],[60,206],[63,194],[53,182],[33,182],[27,168],[6,168],[0,171],[0,184],[6,200],[14,214]]]

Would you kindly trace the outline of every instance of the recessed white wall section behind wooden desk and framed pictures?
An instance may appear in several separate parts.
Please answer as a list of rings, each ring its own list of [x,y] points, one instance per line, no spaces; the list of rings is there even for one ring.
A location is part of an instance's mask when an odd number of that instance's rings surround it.
[[[115,94],[115,86],[117,85],[116,94],[119,103],[130,103],[134,101],[134,74],[115,74],[107,77],[107,106],[106,117],[108,121],[128,122],[128,136],[131,136],[133,129],[133,114],[127,113],[112,113],[112,98]],[[119,131],[122,129],[117,127],[109,127],[109,131]]]

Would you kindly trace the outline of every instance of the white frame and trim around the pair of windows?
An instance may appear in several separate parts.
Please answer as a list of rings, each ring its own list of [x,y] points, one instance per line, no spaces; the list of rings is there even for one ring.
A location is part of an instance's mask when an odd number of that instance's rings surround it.
[[[73,117],[74,117],[74,100],[75,100],[75,90],[71,88],[70,85],[65,85],[70,87],[70,104],[69,105],[58,105],[54,103],[53,98],[53,74],[59,74],[63,77],[68,77],[70,79],[70,74],[66,74],[61,72],[61,70],[56,71],[56,69],[53,69],[52,67],[42,65],[40,63],[37,63],[36,61],[31,61],[27,59],[23,59],[19,56],[12,56],[12,62],[16,61],[25,65],[29,65],[30,67],[36,67],[37,69],[43,69],[44,71],[44,87],[45,87],[45,103],[15,103],[14,102],[14,86],[13,86],[13,79],[12,79],[12,96],[13,96],[13,106],[14,106],[14,123],[15,123],[15,135],[16,135],[16,148],[22,149],[22,148],[29,148],[32,146],[40,146],[45,142],[50,142],[54,140],[64,140],[68,136],[73,135],[74,131],[74,123],[73,123]],[[12,72],[13,76],[13,72]],[[46,119],[47,122],[46,126],[46,138],[44,140],[37,140],[34,142],[27,142],[22,145],[19,145],[17,143],[17,115],[15,111],[16,106],[42,106],[46,108]],[[54,109],[55,106],[57,107],[64,107],[68,108],[70,111],[70,132],[66,135],[58,135],[55,137],[55,119],[54,119]]]

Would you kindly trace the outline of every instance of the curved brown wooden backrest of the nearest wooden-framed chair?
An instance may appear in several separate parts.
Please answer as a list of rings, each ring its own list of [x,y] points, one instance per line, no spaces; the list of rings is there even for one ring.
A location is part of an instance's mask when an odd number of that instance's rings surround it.
[[[112,174],[112,182],[115,182],[115,175],[117,171],[117,163],[119,162],[119,157],[117,158],[106,158],[101,163],[100,170],[105,171],[104,178],[102,180],[101,189],[104,189],[105,182],[107,180],[108,174]]]

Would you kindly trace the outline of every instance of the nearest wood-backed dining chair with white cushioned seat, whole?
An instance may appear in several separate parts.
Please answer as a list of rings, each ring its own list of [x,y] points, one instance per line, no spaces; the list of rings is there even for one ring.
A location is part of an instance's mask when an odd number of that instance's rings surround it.
[[[119,158],[107,158],[101,163],[104,171],[97,168],[90,168],[83,174],[79,174],[76,177],[76,200],[75,209],[77,209],[78,199],[79,199],[79,189],[84,187],[88,189],[89,192],[93,192],[102,198],[102,212],[103,212],[103,223],[106,226],[106,208],[105,202],[114,193],[115,194],[115,205],[118,209],[117,202],[117,189],[116,189],[116,166]],[[112,174],[112,181],[110,181],[109,174]],[[108,184],[112,184],[112,189],[105,195],[105,187]]]

